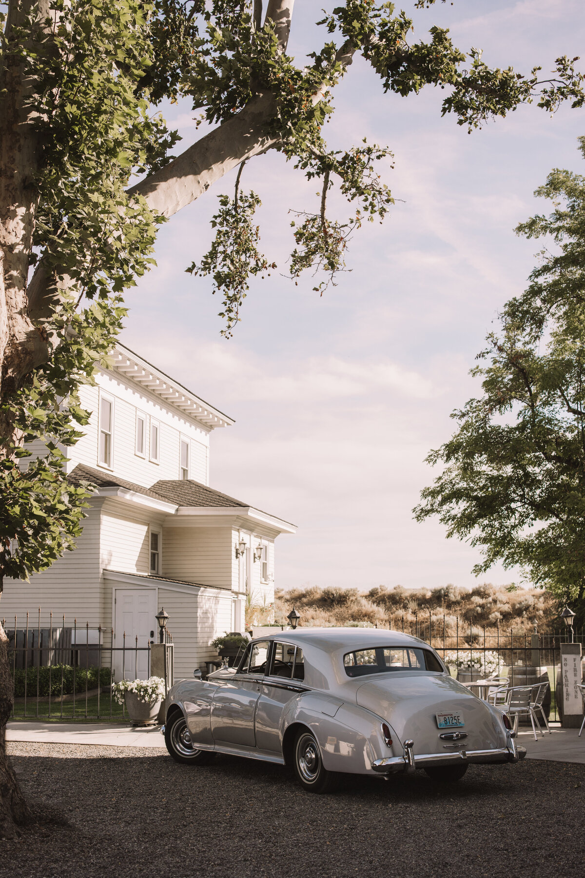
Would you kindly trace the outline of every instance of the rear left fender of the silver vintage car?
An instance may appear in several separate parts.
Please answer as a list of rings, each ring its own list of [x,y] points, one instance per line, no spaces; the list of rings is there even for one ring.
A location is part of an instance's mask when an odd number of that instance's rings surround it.
[[[375,759],[393,755],[382,738],[379,716],[332,695],[311,692],[289,702],[282,715],[282,741],[287,730],[300,725],[317,738],[328,771],[373,774]]]

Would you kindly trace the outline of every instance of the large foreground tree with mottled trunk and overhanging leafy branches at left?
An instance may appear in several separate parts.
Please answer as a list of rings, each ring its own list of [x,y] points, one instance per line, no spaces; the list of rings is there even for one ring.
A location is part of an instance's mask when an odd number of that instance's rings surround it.
[[[432,5],[417,0],[416,7]],[[60,448],[89,417],[76,390],[92,380],[124,317],[121,293],[150,267],[156,227],[254,155],[277,149],[321,188],[314,214],[298,218],[291,274],[343,269],[364,219],[392,204],[375,165],[388,149],[363,141],[327,148],[332,89],[361,54],[385,90],[404,97],[425,84],[446,89],[443,112],[481,126],[537,99],[552,111],[583,103],[573,61],[522,76],[466,56],[448,32],[410,38],[392,4],[345,0],[322,19],[327,37],[296,65],[287,54],[293,0],[9,0],[0,57],[0,588],[72,548],[90,486],[72,491]],[[173,157],[176,136],[155,108],[189,99],[216,127]],[[132,184],[132,180],[139,179]],[[132,185],[131,185],[132,184]],[[326,213],[332,185],[352,204]],[[223,296],[225,335],[239,320],[247,278],[264,270],[253,212],[258,198],[222,196],[216,239],[197,273]],[[29,281],[29,274],[34,273]],[[24,444],[46,442],[46,457]],[[11,709],[0,630],[0,834],[13,834],[24,804],[4,759]]]

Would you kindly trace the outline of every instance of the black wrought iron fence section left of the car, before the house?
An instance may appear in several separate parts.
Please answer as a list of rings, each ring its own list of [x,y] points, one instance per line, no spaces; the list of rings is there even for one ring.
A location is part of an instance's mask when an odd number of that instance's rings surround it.
[[[151,675],[151,641],[139,646],[138,637],[122,634],[114,645],[114,630],[89,623],[66,624],[65,616],[54,624],[54,615],[35,624],[26,614],[25,624],[13,627],[2,620],[14,684],[11,719],[103,719],[125,721],[125,704],[112,692],[117,680],[145,680]],[[173,638],[165,630],[164,677],[172,685]]]

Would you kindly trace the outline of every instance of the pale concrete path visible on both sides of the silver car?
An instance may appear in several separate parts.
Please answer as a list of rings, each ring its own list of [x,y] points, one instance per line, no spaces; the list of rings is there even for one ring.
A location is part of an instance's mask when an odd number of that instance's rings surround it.
[[[8,723],[8,741],[35,744],[94,744],[117,747],[159,747],[165,749],[161,726],[133,728],[121,723]],[[585,731],[552,727],[552,734],[535,741],[531,730],[521,730],[518,743],[526,748],[527,759],[585,764]]]

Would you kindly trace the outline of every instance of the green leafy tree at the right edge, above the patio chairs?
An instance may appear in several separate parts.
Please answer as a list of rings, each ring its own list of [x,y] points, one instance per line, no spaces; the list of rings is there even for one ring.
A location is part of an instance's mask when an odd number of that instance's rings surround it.
[[[585,138],[580,139],[585,157]],[[439,515],[447,536],[482,549],[474,573],[520,565],[561,601],[585,608],[585,176],[555,169],[535,193],[549,216],[517,227],[547,236],[524,294],[472,375],[482,396],[452,417],[459,428],[429,464],[445,464],[422,492],[418,521]],[[581,619],[582,621],[582,619]]]

